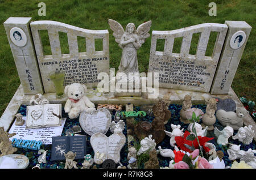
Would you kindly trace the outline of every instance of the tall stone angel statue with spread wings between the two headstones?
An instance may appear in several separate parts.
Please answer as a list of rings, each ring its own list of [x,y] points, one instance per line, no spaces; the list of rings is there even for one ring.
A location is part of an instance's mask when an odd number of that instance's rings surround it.
[[[137,49],[141,48],[145,39],[150,37],[151,20],[139,25],[136,29],[133,23],[126,25],[125,31],[121,24],[109,19],[110,29],[114,31],[115,42],[123,49],[121,63],[118,72],[124,72],[127,77],[129,72],[139,72]]]

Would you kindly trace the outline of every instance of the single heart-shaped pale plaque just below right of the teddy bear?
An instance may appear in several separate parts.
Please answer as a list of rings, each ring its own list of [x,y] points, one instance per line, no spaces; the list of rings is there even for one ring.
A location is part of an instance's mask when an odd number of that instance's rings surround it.
[[[111,114],[108,109],[102,108],[92,112],[82,112],[79,123],[82,129],[90,136],[96,132],[106,134],[109,130]]]

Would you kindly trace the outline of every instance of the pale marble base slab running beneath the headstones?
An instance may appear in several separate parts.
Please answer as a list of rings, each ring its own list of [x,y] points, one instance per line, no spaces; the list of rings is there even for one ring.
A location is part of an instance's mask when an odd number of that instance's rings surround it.
[[[148,98],[147,93],[143,93],[141,96],[114,96],[114,93],[100,93],[96,88],[88,89],[86,96],[94,104],[133,104],[133,105],[146,105],[146,104],[155,104],[161,99],[171,100],[171,104],[182,104],[183,98],[185,95],[190,95],[192,97],[192,104],[205,104],[205,100],[213,97],[218,97],[221,99],[232,98],[236,102],[237,107],[243,107],[242,102],[237,97],[236,93],[232,88],[229,89],[227,95],[211,95],[210,93],[204,92],[193,92],[193,91],[181,91],[176,89],[167,89],[159,88],[159,97],[150,99]],[[0,126],[3,126],[5,130],[9,130],[11,123],[15,119],[15,114],[18,112],[20,105],[28,105],[32,95],[24,95],[22,86],[20,85],[17,91],[15,92],[13,98],[11,99],[9,105],[7,106],[5,112],[0,118]],[[61,103],[65,105],[67,101],[67,96],[63,98],[56,99],[55,93],[46,93],[44,94],[51,104]],[[250,114],[247,113],[243,117],[243,123],[245,126],[252,125],[254,131],[256,132],[256,123]],[[256,133],[254,134],[254,140],[256,140]]]

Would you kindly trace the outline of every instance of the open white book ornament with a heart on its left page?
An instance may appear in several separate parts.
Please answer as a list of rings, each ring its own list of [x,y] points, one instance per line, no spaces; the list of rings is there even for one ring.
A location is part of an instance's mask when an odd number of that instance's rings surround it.
[[[61,104],[27,106],[26,128],[61,126]]]

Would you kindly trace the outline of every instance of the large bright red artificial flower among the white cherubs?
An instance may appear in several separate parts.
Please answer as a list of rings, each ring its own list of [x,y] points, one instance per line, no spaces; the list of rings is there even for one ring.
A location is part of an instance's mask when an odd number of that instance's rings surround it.
[[[192,141],[192,140],[187,140],[186,138],[187,138],[187,136],[188,136],[189,134],[190,134],[190,132],[185,131],[183,137],[182,137],[182,136],[176,136],[176,137],[175,137],[175,142],[176,142],[176,144],[177,144],[177,147],[179,147],[181,150],[187,151],[187,152],[191,153],[192,150],[191,150],[191,149],[188,149],[187,147],[185,147],[184,144],[188,144],[189,146],[192,146],[192,144],[193,144],[193,146],[194,146],[196,149],[199,148],[199,144],[198,144],[198,142],[197,142],[197,139],[195,139],[195,140],[193,140],[193,141]],[[212,139],[214,139],[214,138],[208,138],[207,136],[204,136],[204,137],[202,137],[202,136],[197,136],[197,137],[198,137],[198,139],[199,139],[200,145],[203,146],[204,151],[205,151],[205,152],[210,151],[210,149],[209,149],[208,147],[206,147],[204,144],[205,144],[206,142],[208,142],[209,140],[212,140]]]

